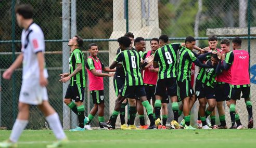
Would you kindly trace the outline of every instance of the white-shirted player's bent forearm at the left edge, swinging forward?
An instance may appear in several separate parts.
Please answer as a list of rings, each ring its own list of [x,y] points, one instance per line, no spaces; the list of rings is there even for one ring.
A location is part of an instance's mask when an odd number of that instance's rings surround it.
[[[3,73],[3,78],[10,79],[14,70],[16,70],[21,66],[22,60],[23,60],[23,53],[20,53],[20,55],[17,57],[14,63],[12,63],[10,67]]]

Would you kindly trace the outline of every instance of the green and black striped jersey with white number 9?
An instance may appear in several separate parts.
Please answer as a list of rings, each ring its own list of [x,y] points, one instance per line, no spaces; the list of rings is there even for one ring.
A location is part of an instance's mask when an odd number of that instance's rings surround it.
[[[158,79],[177,77],[177,51],[181,43],[167,44],[157,49],[154,62],[159,64]]]

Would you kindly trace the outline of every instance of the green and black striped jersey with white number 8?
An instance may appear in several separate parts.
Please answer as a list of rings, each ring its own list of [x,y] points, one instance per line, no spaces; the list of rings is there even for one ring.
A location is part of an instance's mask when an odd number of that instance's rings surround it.
[[[122,62],[126,86],[143,85],[142,71],[140,70],[140,56],[135,50],[124,50],[116,57],[117,62]]]

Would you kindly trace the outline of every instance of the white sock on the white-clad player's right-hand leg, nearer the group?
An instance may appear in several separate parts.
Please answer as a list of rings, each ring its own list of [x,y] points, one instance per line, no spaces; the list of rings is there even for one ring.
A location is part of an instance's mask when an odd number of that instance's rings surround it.
[[[53,130],[55,137],[58,140],[65,139],[66,134],[64,133],[62,126],[60,124],[59,115],[57,113],[54,113],[45,118],[46,118],[48,124],[50,125],[50,128]]]

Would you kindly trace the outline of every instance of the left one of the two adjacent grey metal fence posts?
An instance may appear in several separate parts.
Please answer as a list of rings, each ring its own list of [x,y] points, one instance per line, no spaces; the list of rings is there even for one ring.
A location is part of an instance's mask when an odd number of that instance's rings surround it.
[[[70,38],[70,4],[69,0],[62,1],[62,39]],[[69,72],[69,67],[67,66],[69,63],[69,46],[67,43],[62,42],[62,72]],[[62,84],[62,95],[65,97],[66,90],[68,88],[68,84]],[[63,129],[70,129],[70,109],[69,107],[63,103]]]

